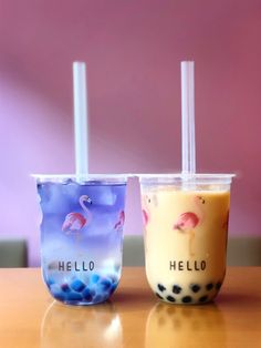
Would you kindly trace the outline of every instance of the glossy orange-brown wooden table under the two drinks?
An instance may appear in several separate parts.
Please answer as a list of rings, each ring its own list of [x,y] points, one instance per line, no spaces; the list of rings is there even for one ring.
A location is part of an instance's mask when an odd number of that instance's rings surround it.
[[[158,301],[144,268],[124,268],[112,301],[88,307],[54,301],[38,268],[2,268],[0,347],[261,347],[261,267],[228,268],[202,306]]]

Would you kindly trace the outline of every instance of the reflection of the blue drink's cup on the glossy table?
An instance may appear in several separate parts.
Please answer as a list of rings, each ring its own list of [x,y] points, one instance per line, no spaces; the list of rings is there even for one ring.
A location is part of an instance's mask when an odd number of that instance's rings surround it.
[[[121,348],[121,317],[107,301],[90,307],[65,306],[53,301],[41,324],[41,348],[95,347]]]

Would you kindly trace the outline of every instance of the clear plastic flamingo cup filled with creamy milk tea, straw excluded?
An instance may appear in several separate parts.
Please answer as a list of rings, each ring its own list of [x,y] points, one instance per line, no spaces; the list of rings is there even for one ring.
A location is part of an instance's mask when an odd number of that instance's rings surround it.
[[[148,283],[169,304],[212,300],[225,278],[230,174],[140,175]]]

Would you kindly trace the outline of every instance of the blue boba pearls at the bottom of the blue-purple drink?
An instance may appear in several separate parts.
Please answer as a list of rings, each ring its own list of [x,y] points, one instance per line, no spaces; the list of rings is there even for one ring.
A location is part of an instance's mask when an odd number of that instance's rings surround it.
[[[74,277],[70,283],[58,284],[50,278],[48,287],[53,297],[71,305],[94,305],[105,301],[116,289],[118,276],[93,274],[83,282]]]

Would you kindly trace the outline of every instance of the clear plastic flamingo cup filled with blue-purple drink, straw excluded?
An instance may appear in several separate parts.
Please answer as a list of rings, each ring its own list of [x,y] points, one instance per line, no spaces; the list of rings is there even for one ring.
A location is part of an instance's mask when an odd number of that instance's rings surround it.
[[[105,301],[122,272],[126,176],[34,175],[42,211],[41,266],[51,295]]]

